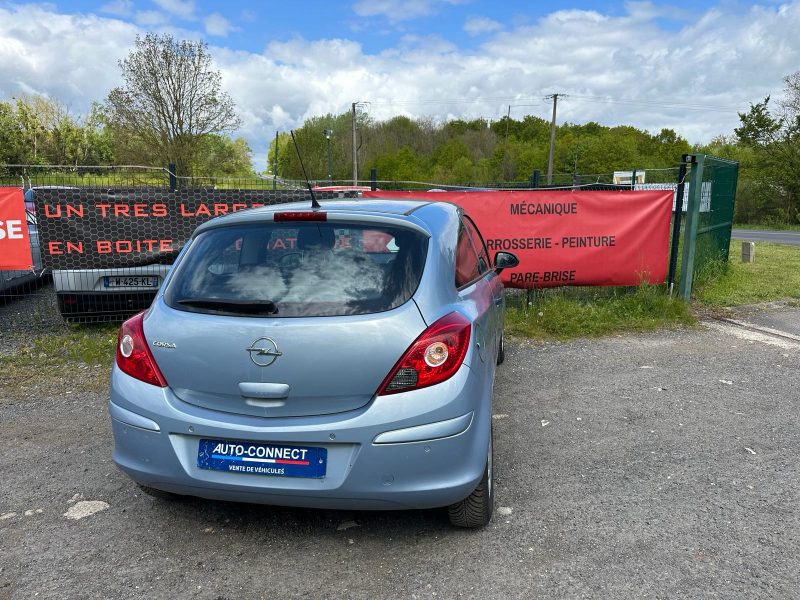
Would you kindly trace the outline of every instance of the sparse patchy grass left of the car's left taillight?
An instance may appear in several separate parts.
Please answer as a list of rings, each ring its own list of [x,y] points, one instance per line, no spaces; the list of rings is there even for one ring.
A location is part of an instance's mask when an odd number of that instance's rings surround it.
[[[114,324],[73,325],[64,332],[21,341],[13,354],[0,355],[0,388],[45,388],[52,393],[66,388],[105,390],[118,329]]]

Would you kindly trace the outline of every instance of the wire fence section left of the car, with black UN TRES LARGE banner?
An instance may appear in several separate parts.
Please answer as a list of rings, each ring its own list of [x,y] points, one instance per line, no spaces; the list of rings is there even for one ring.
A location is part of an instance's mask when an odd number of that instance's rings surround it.
[[[0,326],[17,332],[130,316],[149,306],[200,223],[309,198],[305,184],[184,179],[150,167],[0,165],[0,186],[23,192],[34,265],[0,270]]]

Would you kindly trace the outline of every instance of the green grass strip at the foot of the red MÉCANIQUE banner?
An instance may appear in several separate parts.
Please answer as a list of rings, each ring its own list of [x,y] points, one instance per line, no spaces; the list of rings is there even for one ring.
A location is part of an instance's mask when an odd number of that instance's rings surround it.
[[[506,331],[534,339],[598,337],[692,325],[688,304],[670,298],[664,286],[559,288],[510,297]]]

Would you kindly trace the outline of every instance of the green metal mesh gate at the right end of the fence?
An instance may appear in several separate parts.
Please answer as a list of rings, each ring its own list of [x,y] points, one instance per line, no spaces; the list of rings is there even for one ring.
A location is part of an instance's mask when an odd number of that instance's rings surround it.
[[[739,163],[706,154],[690,154],[686,159],[691,173],[678,290],[688,301],[698,276],[728,260]]]

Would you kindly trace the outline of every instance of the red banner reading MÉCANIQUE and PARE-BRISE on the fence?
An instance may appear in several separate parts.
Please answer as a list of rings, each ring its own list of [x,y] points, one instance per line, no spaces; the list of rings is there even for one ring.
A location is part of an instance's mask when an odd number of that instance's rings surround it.
[[[667,275],[671,190],[364,192],[364,198],[452,202],[472,217],[489,254],[513,252],[510,287],[638,285]]]

